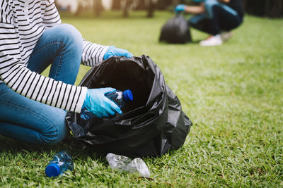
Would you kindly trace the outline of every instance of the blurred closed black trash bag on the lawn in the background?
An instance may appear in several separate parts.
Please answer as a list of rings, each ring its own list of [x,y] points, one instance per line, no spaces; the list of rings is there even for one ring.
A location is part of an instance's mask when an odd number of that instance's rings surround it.
[[[184,44],[192,41],[190,27],[182,14],[176,14],[163,25],[159,41],[173,44]]]

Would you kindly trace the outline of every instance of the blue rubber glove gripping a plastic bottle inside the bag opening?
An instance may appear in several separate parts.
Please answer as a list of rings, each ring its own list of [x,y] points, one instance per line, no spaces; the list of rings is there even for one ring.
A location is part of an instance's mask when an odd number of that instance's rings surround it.
[[[81,118],[88,120],[94,116],[104,118],[115,115],[116,112],[121,114],[119,106],[105,96],[106,93],[114,90],[111,87],[88,89],[81,108]]]

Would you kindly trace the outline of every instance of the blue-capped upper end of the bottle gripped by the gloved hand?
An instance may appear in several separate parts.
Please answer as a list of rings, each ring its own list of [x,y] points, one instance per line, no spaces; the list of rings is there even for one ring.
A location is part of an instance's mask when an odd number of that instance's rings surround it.
[[[123,108],[128,101],[132,101],[134,99],[131,90],[127,89],[124,92],[115,90],[113,92],[109,92],[105,94],[111,101],[115,102],[117,106]]]

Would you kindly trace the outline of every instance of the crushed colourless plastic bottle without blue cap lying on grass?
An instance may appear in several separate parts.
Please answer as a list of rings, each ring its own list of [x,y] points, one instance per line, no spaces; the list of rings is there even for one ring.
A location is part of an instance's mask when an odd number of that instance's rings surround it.
[[[115,155],[108,153],[106,156],[110,168],[129,173],[139,173],[142,177],[150,177],[149,168],[141,158],[134,158],[131,160],[126,156]]]

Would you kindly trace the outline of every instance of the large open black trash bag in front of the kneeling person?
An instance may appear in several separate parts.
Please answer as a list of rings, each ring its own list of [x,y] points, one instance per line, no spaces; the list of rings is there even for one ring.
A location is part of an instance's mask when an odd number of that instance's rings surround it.
[[[134,95],[134,101],[122,108],[122,115],[83,120],[79,113],[67,113],[74,136],[94,151],[161,156],[184,144],[192,123],[148,56],[109,58],[91,68],[80,85],[130,89]]]

